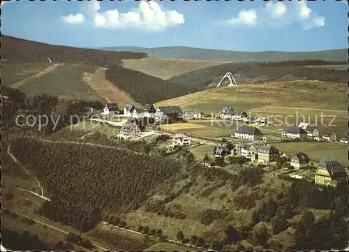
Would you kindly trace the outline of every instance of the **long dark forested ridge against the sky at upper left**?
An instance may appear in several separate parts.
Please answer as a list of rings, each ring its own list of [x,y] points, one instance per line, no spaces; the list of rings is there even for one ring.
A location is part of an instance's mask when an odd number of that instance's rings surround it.
[[[121,59],[142,59],[147,57],[143,52],[110,52],[95,49],[84,49],[14,38],[1,35],[1,60],[24,62],[83,63],[94,66],[112,66]]]

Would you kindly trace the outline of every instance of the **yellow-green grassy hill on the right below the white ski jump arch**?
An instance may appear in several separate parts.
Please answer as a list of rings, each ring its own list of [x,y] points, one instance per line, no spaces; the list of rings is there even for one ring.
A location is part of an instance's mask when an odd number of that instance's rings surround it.
[[[221,108],[230,106],[246,111],[252,115],[252,118],[257,115],[271,116],[272,121],[276,121],[276,115],[278,115],[283,123],[290,115],[289,124],[297,124],[297,118],[302,121],[304,116],[307,121],[316,124],[320,131],[328,130],[330,125],[332,131],[339,135],[346,135],[348,131],[346,90],[346,83],[316,80],[245,84],[207,89],[161,101],[156,103],[156,106],[178,105],[184,110],[198,110],[209,115],[216,115]],[[325,116],[323,124],[320,121],[321,114]],[[334,122],[329,124],[333,117],[336,117]],[[261,131],[265,133],[276,131],[276,134],[280,135],[283,126],[279,128],[269,126],[262,128]]]

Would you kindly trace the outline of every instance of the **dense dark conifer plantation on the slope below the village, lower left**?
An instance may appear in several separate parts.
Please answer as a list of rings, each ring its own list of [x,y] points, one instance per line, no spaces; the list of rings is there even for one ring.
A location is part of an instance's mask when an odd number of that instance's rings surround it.
[[[102,212],[140,207],[149,190],[179,170],[170,158],[128,149],[17,138],[10,151],[54,195],[40,213],[82,231],[101,221]]]

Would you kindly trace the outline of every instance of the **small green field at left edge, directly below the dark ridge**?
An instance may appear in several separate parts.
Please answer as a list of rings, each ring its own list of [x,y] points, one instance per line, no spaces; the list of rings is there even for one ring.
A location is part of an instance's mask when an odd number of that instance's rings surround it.
[[[10,86],[15,82],[24,80],[31,75],[43,71],[51,64],[43,63],[15,63],[15,62],[1,62],[1,84]]]

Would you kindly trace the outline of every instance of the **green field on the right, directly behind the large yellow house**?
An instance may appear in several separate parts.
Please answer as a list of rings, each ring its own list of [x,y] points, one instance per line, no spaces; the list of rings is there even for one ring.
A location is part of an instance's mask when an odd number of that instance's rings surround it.
[[[314,163],[318,163],[322,156],[330,156],[337,158],[344,167],[348,166],[348,145],[346,144],[332,142],[281,142],[273,145],[290,157],[296,152],[303,151]]]

